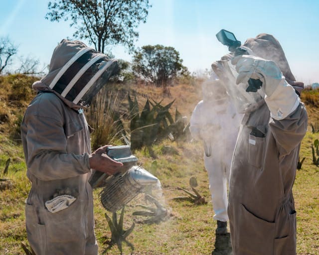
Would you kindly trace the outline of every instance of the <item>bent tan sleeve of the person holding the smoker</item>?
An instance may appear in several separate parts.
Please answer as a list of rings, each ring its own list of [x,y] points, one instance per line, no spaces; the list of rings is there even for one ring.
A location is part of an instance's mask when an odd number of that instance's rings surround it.
[[[65,179],[90,170],[88,153],[67,153],[62,107],[61,102],[46,100],[31,105],[27,110],[30,114],[25,116],[26,163],[29,172],[40,180]]]

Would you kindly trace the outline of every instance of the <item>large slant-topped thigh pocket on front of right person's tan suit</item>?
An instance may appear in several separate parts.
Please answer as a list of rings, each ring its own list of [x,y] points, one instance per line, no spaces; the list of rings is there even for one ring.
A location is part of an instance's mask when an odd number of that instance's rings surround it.
[[[240,215],[238,233],[234,233],[239,250],[243,254],[273,254],[275,223],[258,218],[243,204],[240,205]]]

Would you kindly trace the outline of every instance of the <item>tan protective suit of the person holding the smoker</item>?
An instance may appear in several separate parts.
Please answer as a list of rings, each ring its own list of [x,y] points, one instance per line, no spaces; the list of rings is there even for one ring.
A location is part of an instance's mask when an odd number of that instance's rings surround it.
[[[88,180],[90,134],[81,107],[50,90],[48,84],[79,49],[78,42],[53,53],[50,72],[33,84],[39,93],[28,106],[21,138],[32,187],[25,205],[28,241],[37,255],[97,255],[93,196]],[[53,195],[76,198],[69,207],[49,212]]]

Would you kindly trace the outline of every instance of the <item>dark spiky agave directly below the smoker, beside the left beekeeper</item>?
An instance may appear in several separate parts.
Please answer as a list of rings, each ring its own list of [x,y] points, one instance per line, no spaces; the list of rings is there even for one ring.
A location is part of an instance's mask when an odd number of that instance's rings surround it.
[[[105,213],[105,218],[109,224],[111,230],[111,242],[109,242],[109,247],[104,251],[106,253],[113,245],[117,245],[121,255],[122,253],[122,243],[125,242],[132,251],[134,250],[134,246],[126,240],[126,238],[132,233],[134,230],[135,224],[133,223],[132,226],[128,230],[123,229],[123,221],[124,221],[124,207],[121,211],[121,216],[118,222],[116,212],[113,213],[112,219]]]

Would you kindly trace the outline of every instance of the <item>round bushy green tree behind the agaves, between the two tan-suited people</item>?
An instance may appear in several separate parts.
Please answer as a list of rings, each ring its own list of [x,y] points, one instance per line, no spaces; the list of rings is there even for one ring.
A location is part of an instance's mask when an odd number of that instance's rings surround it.
[[[179,52],[173,47],[146,45],[135,52],[132,68],[142,79],[164,90],[172,79],[188,73],[182,62]]]

